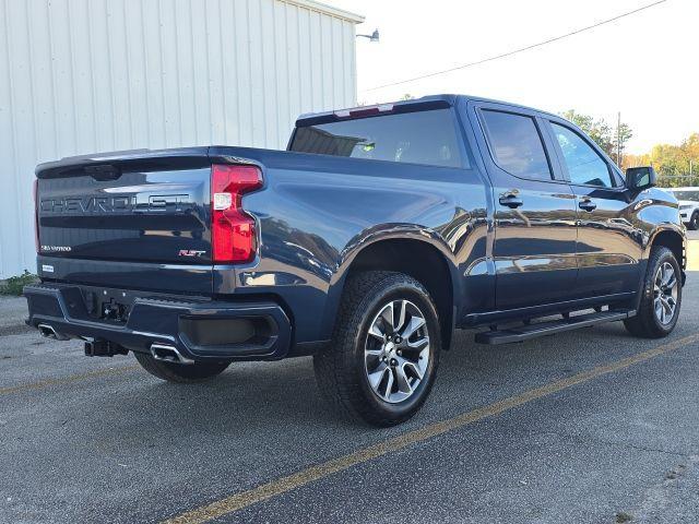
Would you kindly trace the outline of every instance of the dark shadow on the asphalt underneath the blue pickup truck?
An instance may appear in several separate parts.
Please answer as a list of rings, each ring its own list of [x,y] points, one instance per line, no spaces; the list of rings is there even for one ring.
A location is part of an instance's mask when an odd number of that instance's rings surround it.
[[[678,327],[677,336],[685,330]],[[621,324],[507,346],[481,346],[460,333],[451,352],[442,353],[439,379],[425,410],[407,427],[453,416],[552,380],[628,357],[656,345],[628,335]],[[104,398],[98,415],[84,420],[94,432],[120,434],[120,444],[143,437],[162,439],[254,439],[257,431],[279,437],[342,430],[362,434],[405,430],[375,429],[346,421],[325,406],[310,358],[270,364],[234,364],[216,379],[199,384],[170,384],[137,370],[128,388]],[[130,437],[125,437],[130,436]],[[167,437],[171,438],[171,437]],[[103,440],[103,441],[105,441]]]

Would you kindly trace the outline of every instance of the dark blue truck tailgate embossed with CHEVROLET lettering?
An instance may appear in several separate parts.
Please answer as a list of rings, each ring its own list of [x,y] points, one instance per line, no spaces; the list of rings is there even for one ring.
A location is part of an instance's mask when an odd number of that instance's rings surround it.
[[[149,287],[210,293],[210,164],[208,148],[194,147],[38,166],[42,276],[143,288],[150,269],[181,269],[187,278],[161,273]]]

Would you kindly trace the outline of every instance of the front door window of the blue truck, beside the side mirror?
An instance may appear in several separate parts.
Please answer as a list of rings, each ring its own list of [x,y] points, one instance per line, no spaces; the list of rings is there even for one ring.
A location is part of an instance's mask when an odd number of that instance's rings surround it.
[[[550,126],[564,153],[571,183],[601,188],[614,186],[607,163],[582,136],[565,126],[555,122],[550,122]]]

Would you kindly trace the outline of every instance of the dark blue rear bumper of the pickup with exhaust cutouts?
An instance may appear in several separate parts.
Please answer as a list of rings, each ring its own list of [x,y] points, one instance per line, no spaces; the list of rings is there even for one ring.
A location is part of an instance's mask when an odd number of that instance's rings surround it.
[[[79,286],[26,286],[27,324],[61,335],[105,340],[133,352],[153,344],[175,346],[191,359],[272,360],[286,356],[292,327],[274,302],[187,301],[135,297],[126,322],[90,315]]]

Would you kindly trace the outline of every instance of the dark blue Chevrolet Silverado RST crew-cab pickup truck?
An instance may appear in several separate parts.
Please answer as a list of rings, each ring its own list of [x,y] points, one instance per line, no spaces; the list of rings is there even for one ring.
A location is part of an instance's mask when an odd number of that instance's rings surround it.
[[[313,355],[323,394],[412,416],[454,329],[483,344],[624,321],[667,335],[685,229],[555,115],[430,96],[303,116],[288,151],[190,147],[36,169],[28,323],[192,382]]]

